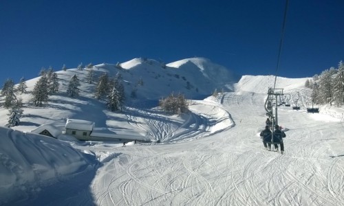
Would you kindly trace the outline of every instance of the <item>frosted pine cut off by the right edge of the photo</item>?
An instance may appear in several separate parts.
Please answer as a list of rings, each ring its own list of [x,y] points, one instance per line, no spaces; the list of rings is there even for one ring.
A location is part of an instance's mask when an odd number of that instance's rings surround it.
[[[344,63],[343,61],[338,64],[338,71],[334,78],[334,100],[337,106],[344,104]]]

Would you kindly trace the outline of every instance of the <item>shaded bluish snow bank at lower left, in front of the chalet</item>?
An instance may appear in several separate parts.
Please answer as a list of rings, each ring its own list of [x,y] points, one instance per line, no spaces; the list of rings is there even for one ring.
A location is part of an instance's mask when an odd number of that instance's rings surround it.
[[[96,163],[63,141],[5,127],[0,145],[0,205]]]

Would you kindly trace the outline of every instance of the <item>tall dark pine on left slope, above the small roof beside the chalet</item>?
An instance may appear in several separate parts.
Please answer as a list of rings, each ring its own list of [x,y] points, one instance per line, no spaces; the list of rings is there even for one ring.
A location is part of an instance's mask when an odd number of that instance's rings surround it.
[[[49,100],[47,87],[47,77],[41,76],[32,90],[32,98],[30,101],[34,106],[43,106],[43,102],[47,102],[47,100]]]

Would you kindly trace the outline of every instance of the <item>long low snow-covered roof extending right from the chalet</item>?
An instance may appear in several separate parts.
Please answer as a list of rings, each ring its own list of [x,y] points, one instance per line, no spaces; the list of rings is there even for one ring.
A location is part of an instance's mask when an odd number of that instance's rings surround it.
[[[135,130],[114,129],[114,128],[94,128],[92,137],[108,137],[116,139],[137,139],[147,141],[148,139]]]

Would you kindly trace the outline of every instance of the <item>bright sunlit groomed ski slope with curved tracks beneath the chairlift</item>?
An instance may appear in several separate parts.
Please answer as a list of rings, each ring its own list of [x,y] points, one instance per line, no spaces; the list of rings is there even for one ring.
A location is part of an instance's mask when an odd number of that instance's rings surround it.
[[[98,145],[94,152],[113,155],[89,186],[92,198],[81,193],[76,199],[83,205],[344,205],[343,122],[281,108],[286,153],[268,152],[258,135],[266,119],[265,96],[226,93],[218,107],[235,126],[208,137],[200,133],[196,139],[189,131],[193,141],[116,152]],[[196,130],[210,126],[201,116],[194,122],[205,125]],[[166,124],[153,125],[155,134],[171,132]]]

